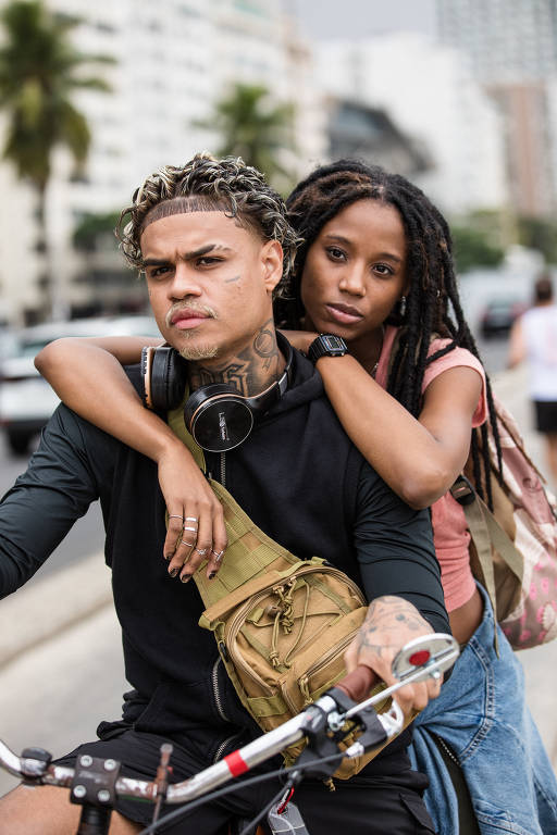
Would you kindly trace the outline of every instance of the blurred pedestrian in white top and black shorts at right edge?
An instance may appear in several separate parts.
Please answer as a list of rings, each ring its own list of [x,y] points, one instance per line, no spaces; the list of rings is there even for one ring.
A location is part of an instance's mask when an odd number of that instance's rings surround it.
[[[547,464],[557,486],[557,304],[549,273],[537,278],[532,308],[510,332],[509,367],[524,360],[536,429],[546,438]]]

